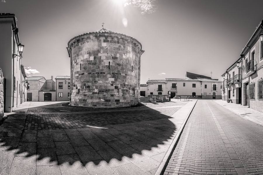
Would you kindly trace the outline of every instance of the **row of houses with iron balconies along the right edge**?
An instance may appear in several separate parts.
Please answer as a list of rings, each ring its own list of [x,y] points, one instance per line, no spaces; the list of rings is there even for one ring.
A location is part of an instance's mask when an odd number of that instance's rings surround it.
[[[246,43],[242,52],[240,53],[240,58],[226,70],[226,73],[222,75],[225,78],[222,86],[225,84],[225,88],[230,89],[226,92],[225,98],[236,100],[232,102],[240,103],[244,106],[248,106],[257,111],[263,112],[263,20],[259,23],[256,30],[250,37],[249,41]],[[238,67],[238,70],[237,70]],[[237,71],[240,74],[241,83],[235,83],[236,78],[233,78],[231,71]],[[236,73],[235,73],[236,74]],[[230,76],[229,76],[230,75]],[[239,76],[239,75],[238,75]],[[234,84],[231,82],[234,80]],[[231,87],[232,86],[232,87]],[[235,88],[238,88],[235,89]],[[235,89],[234,93],[231,90]],[[241,91],[241,92],[240,92]],[[236,93],[238,94],[236,95]],[[240,95],[241,94],[241,95]]]

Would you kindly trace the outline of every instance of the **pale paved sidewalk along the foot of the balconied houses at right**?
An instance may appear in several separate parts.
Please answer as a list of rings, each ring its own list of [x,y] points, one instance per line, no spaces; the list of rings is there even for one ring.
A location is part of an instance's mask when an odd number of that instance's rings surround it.
[[[221,106],[224,106],[228,110],[242,116],[243,118],[263,126],[262,112],[248,108],[248,106],[242,106],[240,104],[235,104],[235,103],[227,103],[226,101],[223,100],[215,100],[215,102],[217,102]]]

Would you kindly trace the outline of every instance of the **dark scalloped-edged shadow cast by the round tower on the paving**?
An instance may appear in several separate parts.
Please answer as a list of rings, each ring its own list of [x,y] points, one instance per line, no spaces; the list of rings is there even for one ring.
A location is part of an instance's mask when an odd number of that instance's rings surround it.
[[[18,156],[37,155],[37,165],[125,162],[134,154],[150,157],[166,152],[177,132],[169,119],[147,106],[81,114],[17,111],[0,126],[0,148],[15,150]]]

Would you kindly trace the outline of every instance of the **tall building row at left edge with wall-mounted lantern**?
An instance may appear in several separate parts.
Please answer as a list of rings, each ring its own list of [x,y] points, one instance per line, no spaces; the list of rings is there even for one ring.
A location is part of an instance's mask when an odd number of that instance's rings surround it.
[[[11,112],[27,98],[25,74],[21,69],[22,55],[18,50],[21,41],[14,14],[0,13],[0,31],[0,68],[5,78],[4,111]]]

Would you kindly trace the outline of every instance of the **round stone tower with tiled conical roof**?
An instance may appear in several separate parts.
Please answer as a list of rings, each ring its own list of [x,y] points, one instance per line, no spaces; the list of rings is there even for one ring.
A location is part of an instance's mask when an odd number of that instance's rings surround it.
[[[140,102],[143,50],[131,36],[107,29],[68,42],[72,106],[113,108]]]

